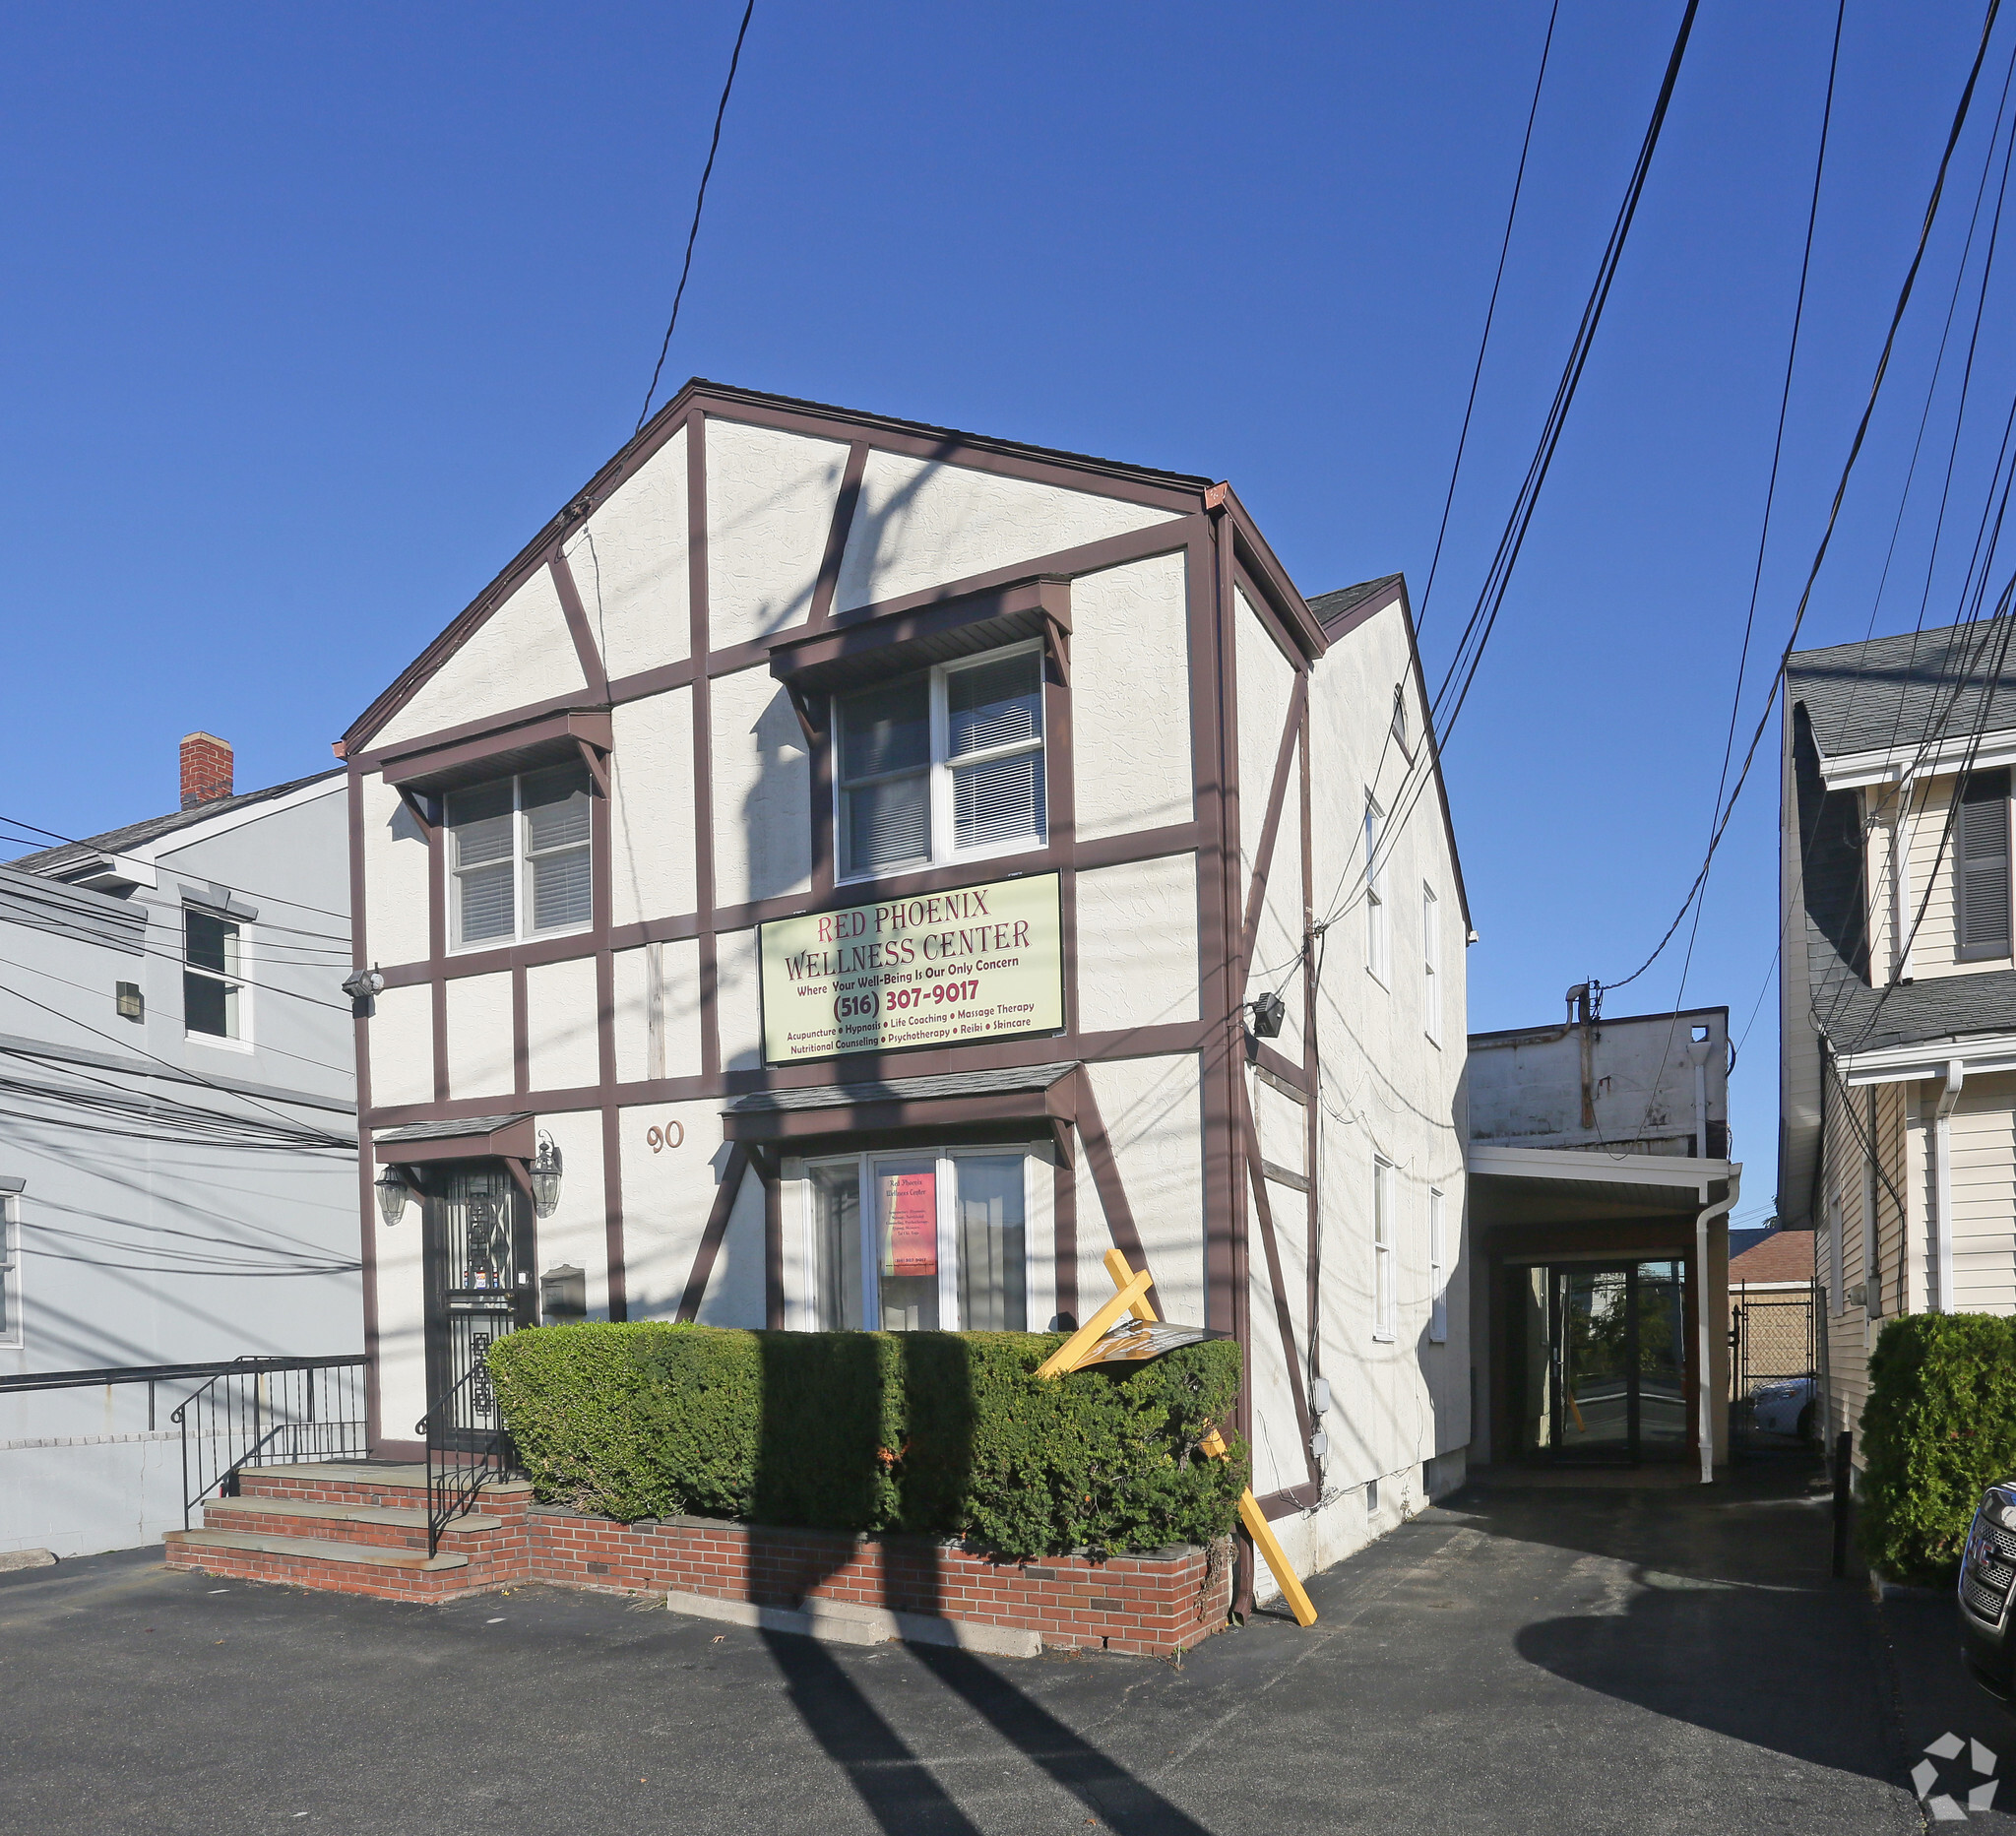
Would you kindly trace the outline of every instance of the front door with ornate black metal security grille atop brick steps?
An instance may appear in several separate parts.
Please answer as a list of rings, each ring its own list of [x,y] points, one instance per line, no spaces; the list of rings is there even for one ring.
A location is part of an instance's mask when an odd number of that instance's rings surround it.
[[[427,1187],[427,1415],[444,1431],[429,1439],[474,1445],[496,1429],[484,1352],[536,1318],[532,1207],[502,1161],[450,1163]]]

